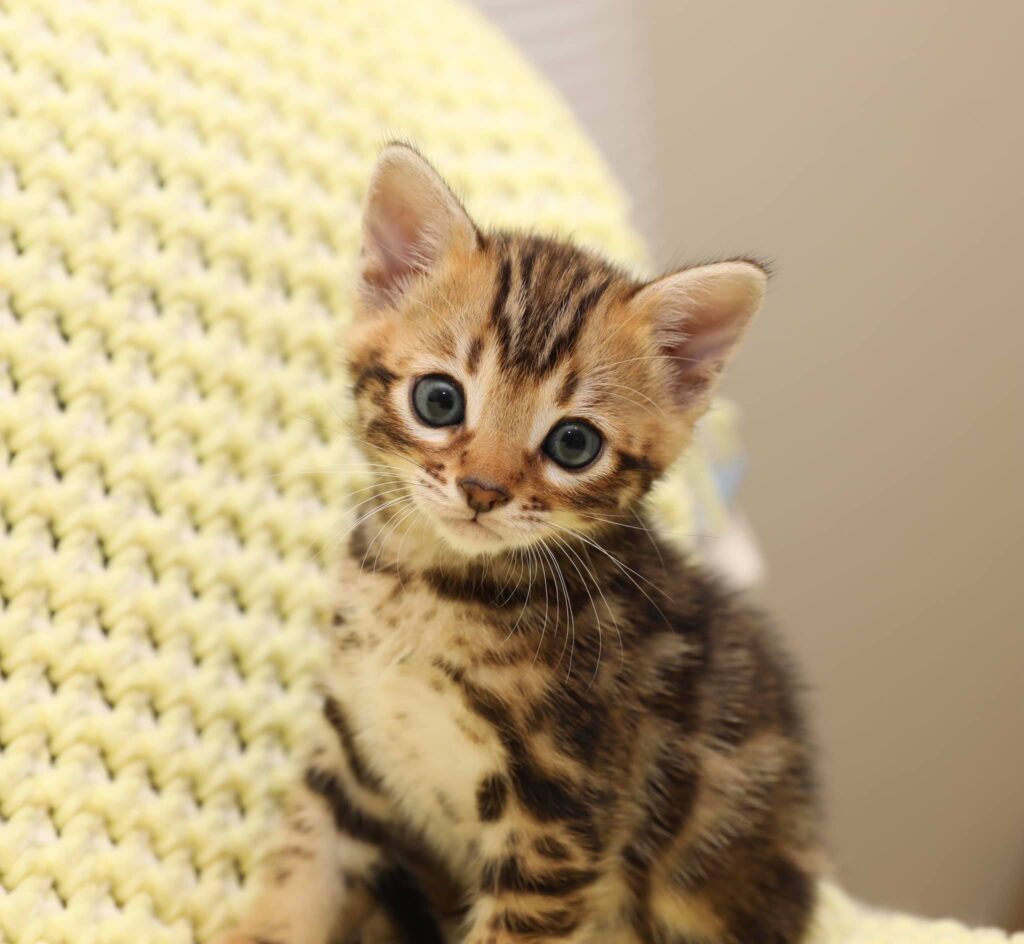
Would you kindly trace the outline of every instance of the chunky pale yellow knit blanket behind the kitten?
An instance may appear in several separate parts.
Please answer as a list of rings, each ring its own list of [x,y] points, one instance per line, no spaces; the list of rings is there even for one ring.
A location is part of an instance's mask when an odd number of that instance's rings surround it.
[[[483,222],[642,264],[565,108],[450,0],[0,0],[0,940],[186,944],[239,900],[316,723],[389,136]],[[827,902],[822,942],[964,936]]]

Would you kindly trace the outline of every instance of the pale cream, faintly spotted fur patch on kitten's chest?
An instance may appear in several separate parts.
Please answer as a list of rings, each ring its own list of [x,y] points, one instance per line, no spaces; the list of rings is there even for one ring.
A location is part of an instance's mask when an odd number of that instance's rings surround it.
[[[331,688],[400,815],[458,857],[465,849],[451,847],[465,846],[478,822],[478,786],[502,757],[497,733],[443,669],[452,631],[478,628],[455,607],[402,596],[400,605],[376,601],[350,611]]]

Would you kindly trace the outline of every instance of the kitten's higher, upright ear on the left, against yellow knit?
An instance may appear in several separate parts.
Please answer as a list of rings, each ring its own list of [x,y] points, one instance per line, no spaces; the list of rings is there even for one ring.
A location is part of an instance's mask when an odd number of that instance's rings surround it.
[[[364,310],[393,307],[447,252],[478,245],[476,226],[440,174],[414,148],[388,144],[362,209]]]

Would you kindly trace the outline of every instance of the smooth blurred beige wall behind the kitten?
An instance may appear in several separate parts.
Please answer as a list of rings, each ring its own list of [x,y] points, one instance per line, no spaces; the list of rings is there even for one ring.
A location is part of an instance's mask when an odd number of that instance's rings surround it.
[[[659,267],[777,266],[726,392],[839,877],[1024,927],[1024,3],[475,2]]]

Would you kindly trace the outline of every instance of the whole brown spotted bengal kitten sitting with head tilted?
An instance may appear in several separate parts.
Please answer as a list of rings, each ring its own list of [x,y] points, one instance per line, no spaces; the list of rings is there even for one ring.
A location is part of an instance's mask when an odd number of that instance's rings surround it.
[[[791,670],[642,505],[764,270],[643,283],[484,232],[398,144],[362,230],[348,350],[374,485],[333,736],[224,940],[801,940],[817,818]]]

